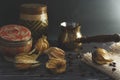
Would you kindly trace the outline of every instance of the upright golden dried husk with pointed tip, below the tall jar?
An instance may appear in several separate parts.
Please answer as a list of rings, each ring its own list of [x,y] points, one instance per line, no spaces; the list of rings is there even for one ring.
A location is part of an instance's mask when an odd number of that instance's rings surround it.
[[[47,37],[43,35],[35,44],[35,49],[43,52],[47,48],[49,48],[49,42],[47,41]]]

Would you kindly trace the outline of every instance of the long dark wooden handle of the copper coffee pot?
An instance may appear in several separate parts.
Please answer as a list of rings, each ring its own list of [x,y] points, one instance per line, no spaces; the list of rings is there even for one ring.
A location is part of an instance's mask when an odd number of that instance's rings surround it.
[[[120,35],[114,34],[114,35],[96,35],[91,37],[82,37],[75,42],[78,43],[90,43],[90,42],[119,42],[120,41]]]

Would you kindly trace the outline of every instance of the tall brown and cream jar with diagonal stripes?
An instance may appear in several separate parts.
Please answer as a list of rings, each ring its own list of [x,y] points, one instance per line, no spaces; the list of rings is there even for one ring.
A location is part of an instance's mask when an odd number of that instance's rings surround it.
[[[47,35],[47,6],[44,4],[22,4],[20,24],[31,30],[34,40],[37,40],[42,35]]]

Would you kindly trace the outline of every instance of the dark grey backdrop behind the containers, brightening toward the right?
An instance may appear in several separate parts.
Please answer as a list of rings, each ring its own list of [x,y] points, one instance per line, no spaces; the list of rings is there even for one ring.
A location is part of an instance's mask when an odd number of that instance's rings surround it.
[[[120,32],[120,0],[0,0],[0,26],[19,20],[23,3],[48,6],[49,39],[57,39],[63,21],[80,22],[85,36]]]

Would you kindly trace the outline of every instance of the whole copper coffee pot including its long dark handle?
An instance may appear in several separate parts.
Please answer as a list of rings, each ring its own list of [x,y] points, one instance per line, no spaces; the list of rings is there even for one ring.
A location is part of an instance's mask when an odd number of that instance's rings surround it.
[[[62,48],[73,50],[80,47],[82,43],[120,41],[119,34],[83,37],[80,32],[80,28],[81,26],[78,23],[62,22],[62,32],[58,38],[59,45]]]

